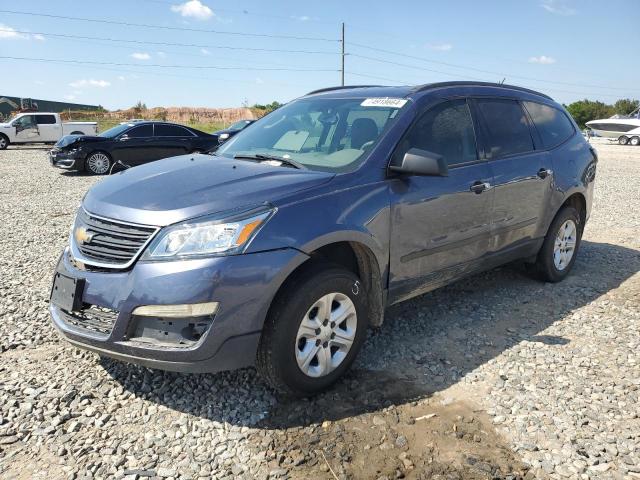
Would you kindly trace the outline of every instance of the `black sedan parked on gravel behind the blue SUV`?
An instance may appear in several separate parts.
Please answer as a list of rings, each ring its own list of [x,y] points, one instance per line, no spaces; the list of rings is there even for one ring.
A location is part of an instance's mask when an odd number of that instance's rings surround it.
[[[109,173],[115,163],[135,167],[161,158],[205,152],[218,136],[166,122],[129,122],[100,135],[62,137],[49,152],[51,165],[65,170]]]

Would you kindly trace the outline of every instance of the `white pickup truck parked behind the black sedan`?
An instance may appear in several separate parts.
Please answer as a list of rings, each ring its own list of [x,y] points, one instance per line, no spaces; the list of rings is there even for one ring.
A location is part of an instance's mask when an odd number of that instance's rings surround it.
[[[11,143],[55,143],[65,135],[96,135],[96,122],[62,123],[57,113],[19,113],[0,123],[0,150]]]

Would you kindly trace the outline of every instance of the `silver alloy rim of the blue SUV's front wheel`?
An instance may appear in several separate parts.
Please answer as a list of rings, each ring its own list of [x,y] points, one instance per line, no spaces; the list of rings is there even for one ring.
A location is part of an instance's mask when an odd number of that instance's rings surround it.
[[[329,293],[309,308],[296,335],[295,354],[300,370],[323,377],[338,368],[355,340],[358,317],[351,299]]]

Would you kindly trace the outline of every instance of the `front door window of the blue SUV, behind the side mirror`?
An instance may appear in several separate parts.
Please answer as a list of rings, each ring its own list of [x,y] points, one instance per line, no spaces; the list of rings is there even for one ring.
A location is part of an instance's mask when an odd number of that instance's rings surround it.
[[[411,148],[442,155],[450,166],[476,161],[476,137],[467,102],[448,101],[428,110],[411,127],[400,145],[400,158],[394,162],[400,163]]]

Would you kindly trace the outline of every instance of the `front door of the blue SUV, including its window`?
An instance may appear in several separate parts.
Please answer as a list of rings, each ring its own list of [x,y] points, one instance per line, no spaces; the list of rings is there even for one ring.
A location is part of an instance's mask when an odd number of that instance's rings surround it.
[[[399,163],[410,148],[442,155],[449,175],[391,180],[392,303],[463,275],[489,245],[493,178],[479,159],[466,100],[428,109],[400,142],[392,162]]]

